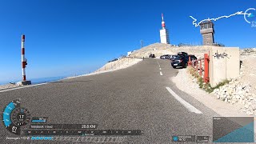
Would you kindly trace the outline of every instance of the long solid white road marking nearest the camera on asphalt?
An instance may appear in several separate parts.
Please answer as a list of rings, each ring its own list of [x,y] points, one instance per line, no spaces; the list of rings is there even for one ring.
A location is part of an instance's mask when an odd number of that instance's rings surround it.
[[[174,96],[175,99],[178,100],[178,102],[181,102],[181,104],[185,106],[187,110],[190,110],[190,112],[193,112],[195,114],[202,114],[200,110],[190,105],[190,103],[186,102],[184,99],[180,98],[176,93],[174,93],[174,91],[171,90],[170,87],[166,87],[166,89],[170,92],[170,94]]]

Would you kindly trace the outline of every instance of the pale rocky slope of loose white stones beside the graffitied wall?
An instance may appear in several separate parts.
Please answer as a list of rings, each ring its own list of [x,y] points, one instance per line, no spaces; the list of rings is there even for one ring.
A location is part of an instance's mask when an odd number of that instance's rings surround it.
[[[231,104],[238,102],[243,105],[243,112],[256,115],[256,48],[240,50],[240,61],[240,76],[214,90],[214,94],[222,101]]]

